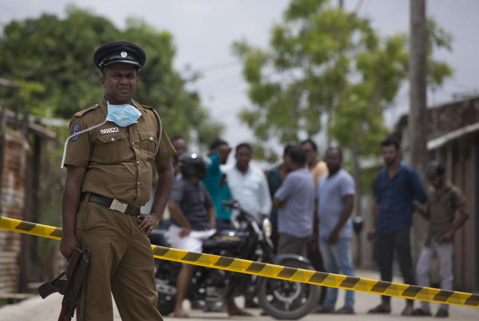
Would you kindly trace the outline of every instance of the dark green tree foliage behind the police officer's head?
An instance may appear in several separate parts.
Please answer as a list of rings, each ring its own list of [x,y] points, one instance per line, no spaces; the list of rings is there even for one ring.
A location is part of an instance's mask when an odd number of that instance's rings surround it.
[[[42,14],[11,21],[0,37],[0,75],[22,87],[22,112],[69,119],[101,99],[101,73],[92,56],[100,45],[115,40],[132,41],[145,50],[134,98],[157,109],[170,136],[193,134],[199,143],[209,143],[219,135],[222,126],[210,118],[198,94],[185,88],[190,79],[173,68],[171,33],[139,19],[127,19],[120,30],[102,16],[70,6],[65,19]],[[1,103],[12,106],[14,101],[4,98]]]

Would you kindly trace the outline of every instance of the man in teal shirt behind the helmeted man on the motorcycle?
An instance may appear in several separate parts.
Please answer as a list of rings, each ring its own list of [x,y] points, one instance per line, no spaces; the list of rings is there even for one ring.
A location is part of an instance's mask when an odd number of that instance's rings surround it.
[[[211,142],[208,156],[212,163],[207,167],[207,176],[203,180],[215,203],[218,230],[230,225],[231,209],[221,205],[221,202],[232,198],[231,191],[226,183],[226,175],[220,170],[220,165],[226,163],[230,152],[231,146],[223,139],[217,138]]]

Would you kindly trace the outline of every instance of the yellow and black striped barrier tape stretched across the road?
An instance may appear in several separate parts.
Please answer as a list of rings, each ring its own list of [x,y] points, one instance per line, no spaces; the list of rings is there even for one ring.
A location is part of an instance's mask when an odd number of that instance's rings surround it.
[[[60,228],[5,217],[0,217],[0,229],[56,240],[61,239],[62,233]],[[188,263],[207,268],[223,269],[232,272],[253,274],[261,277],[296,281],[391,297],[479,308],[479,295],[477,294],[289,268],[262,262],[195,253],[156,245],[152,245],[151,248],[155,258]]]

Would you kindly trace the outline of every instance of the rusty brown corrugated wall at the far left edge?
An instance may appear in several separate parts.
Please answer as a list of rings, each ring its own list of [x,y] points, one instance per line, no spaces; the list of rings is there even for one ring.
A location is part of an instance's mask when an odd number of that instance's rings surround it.
[[[28,143],[21,133],[10,129],[5,129],[4,139],[0,215],[21,220]],[[0,230],[0,292],[18,289],[20,251],[21,234]]]

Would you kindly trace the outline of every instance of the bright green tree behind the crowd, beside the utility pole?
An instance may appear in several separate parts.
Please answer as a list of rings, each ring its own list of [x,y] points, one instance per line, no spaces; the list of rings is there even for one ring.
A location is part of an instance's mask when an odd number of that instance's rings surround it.
[[[434,46],[450,48],[450,42],[451,36],[430,21],[430,52]],[[333,140],[352,155],[360,188],[361,159],[379,153],[388,132],[383,112],[408,75],[406,35],[380,37],[367,18],[327,0],[292,0],[283,22],[273,27],[270,48],[241,40],[233,51],[243,61],[252,103],[239,117],[255,137],[287,143],[325,129],[328,144]],[[433,86],[452,74],[431,57],[428,67]]]

